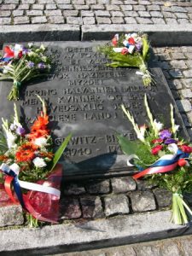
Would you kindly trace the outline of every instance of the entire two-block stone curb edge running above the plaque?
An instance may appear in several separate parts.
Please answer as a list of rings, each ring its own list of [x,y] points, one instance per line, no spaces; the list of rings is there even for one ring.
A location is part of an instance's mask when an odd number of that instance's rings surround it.
[[[21,41],[109,40],[115,32],[147,32],[152,46],[190,45],[192,42],[192,24],[30,24],[0,26],[0,44]]]

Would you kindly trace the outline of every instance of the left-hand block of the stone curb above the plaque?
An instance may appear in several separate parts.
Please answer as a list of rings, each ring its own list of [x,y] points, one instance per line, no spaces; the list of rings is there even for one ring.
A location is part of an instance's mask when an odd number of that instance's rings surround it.
[[[79,25],[0,26],[0,44],[32,41],[79,41]]]

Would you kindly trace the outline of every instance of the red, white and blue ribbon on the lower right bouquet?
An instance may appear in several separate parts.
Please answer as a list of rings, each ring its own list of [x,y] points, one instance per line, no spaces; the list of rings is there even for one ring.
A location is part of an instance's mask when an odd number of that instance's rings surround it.
[[[162,157],[160,157],[159,160],[155,161],[154,164],[150,165],[145,170],[143,170],[140,166],[137,166],[140,172],[133,175],[133,178],[137,179],[145,175],[154,174],[154,173],[171,172],[177,167],[179,159],[189,158],[189,154],[184,153],[182,150],[178,149],[175,143],[170,144],[168,147],[169,147],[169,150],[175,154],[163,155]],[[133,159],[139,160],[136,154],[131,154],[127,160],[128,166],[134,166],[130,162]]]

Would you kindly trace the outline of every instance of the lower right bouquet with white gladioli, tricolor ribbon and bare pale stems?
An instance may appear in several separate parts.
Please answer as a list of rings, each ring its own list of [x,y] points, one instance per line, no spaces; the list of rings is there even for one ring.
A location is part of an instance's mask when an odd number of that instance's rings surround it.
[[[147,96],[144,103],[148,113],[149,125],[139,127],[131,113],[122,105],[125,116],[133,125],[138,141],[133,143],[126,137],[117,135],[119,145],[128,154],[127,165],[137,166],[138,173],[133,178],[145,177],[149,183],[166,188],[172,192],[172,222],[187,224],[191,216],[187,203],[183,200],[185,192],[192,191],[192,147],[177,137],[178,125],[173,117],[171,104],[170,129],[163,129],[163,124],[153,118],[148,107]],[[186,213],[187,212],[187,213]]]

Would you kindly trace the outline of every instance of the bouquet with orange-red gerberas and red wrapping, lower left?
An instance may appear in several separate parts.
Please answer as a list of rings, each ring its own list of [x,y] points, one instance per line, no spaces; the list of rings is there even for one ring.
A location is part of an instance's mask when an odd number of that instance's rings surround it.
[[[20,203],[30,223],[37,220],[54,223],[59,217],[61,165],[57,164],[71,138],[69,134],[53,153],[48,129],[49,116],[44,100],[43,111],[33,123],[30,133],[20,124],[15,106],[11,124],[3,119],[0,137],[0,184],[9,198]],[[12,189],[13,185],[13,189]],[[34,220],[34,221],[33,221]]]

